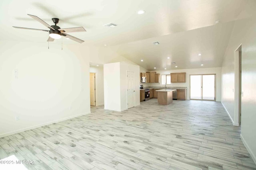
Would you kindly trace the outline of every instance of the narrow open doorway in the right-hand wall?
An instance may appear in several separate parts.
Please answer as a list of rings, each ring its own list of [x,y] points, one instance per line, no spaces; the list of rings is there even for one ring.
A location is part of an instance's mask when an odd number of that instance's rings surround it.
[[[234,125],[239,126],[241,124],[241,98],[242,92],[242,44],[235,50],[235,86],[234,86]]]

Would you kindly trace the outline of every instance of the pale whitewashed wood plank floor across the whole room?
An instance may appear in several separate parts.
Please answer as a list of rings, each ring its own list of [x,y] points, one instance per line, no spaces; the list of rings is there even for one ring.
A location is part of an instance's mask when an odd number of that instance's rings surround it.
[[[220,102],[156,99],[0,138],[0,159],[35,160],[36,170],[256,169]]]

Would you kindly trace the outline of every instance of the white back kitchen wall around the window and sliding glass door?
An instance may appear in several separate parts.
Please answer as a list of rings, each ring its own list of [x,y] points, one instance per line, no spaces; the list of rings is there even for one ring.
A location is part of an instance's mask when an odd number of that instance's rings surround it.
[[[186,72],[186,82],[185,83],[172,83],[170,85],[166,85],[167,87],[188,87],[186,91],[186,100],[189,100],[189,80],[190,80],[190,74],[216,74],[216,102],[220,102],[221,99],[221,68],[220,67],[214,67],[214,68],[196,68],[196,69],[177,69],[177,70],[156,70],[156,73],[162,74],[170,74],[173,72]],[[161,80],[161,76],[160,76]],[[146,86],[162,86],[161,81],[160,83],[144,83],[144,87]]]

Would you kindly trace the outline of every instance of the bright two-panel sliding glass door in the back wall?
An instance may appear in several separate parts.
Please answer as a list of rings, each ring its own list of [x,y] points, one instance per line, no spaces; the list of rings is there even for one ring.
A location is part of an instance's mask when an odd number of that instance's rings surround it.
[[[190,75],[190,100],[216,100],[216,74]]]

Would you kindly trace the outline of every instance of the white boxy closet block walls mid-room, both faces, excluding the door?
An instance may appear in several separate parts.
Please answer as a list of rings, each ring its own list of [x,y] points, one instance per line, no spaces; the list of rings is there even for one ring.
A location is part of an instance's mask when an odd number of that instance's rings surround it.
[[[127,109],[127,71],[140,78],[140,67],[126,63],[104,64],[104,108],[114,111]],[[135,81],[135,106],[140,105],[140,82]]]

